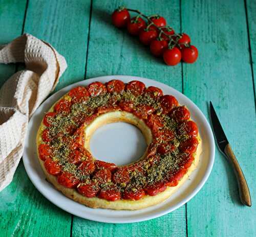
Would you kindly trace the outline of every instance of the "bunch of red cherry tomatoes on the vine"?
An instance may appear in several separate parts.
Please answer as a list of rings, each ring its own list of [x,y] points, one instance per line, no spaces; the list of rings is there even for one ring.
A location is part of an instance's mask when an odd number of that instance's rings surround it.
[[[138,15],[131,18],[129,11]],[[198,58],[198,50],[190,44],[190,37],[185,33],[176,34],[162,16],[146,16],[138,10],[119,7],[112,13],[112,22],[117,28],[126,27],[131,35],[138,36],[143,44],[150,46],[151,53],[163,57],[167,65],[177,65],[181,60],[194,63]]]

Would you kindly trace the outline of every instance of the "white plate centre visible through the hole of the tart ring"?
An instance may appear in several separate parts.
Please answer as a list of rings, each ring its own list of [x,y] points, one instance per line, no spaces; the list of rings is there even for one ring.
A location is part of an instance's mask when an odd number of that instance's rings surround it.
[[[118,122],[99,127],[91,136],[90,150],[99,160],[125,165],[146,151],[145,137],[136,126]]]

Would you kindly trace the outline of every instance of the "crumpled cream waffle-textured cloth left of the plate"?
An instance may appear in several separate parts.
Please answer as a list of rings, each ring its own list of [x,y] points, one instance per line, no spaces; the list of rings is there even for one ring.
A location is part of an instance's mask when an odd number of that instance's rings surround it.
[[[0,46],[0,63],[26,68],[0,89],[0,191],[11,181],[24,150],[30,116],[55,88],[66,60],[48,43],[24,34]]]

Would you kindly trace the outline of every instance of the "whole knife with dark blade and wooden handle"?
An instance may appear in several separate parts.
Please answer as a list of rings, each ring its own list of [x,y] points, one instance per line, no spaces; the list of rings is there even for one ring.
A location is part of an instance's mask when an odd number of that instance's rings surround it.
[[[212,106],[211,101],[210,101],[210,117],[211,117],[212,127],[214,128],[214,134],[215,134],[218,148],[230,162],[233,168],[234,174],[237,177],[240,200],[244,205],[251,206],[250,191],[249,191],[247,182],[245,180],[243,171],[241,170],[238,160],[234,155],[231,149],[231,146],[228,143],[227,137],[221,127],[219,118],[217,117],[217,114],[214,110],[214,106]]]

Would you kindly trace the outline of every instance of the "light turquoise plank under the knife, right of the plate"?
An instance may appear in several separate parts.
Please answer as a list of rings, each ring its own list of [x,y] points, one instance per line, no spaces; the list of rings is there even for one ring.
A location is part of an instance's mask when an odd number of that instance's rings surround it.
[[[236,178],[216,149],[209,180],[187,204],[188,236],[255,236],[255,110],[243,1],[182,1],[182,31],[199,49],[183,65],[184,93],[208,117],[214,104],[251,191],[242,206]],[[209,117],[208,117],[209,118]]]

